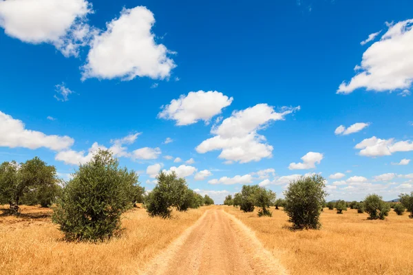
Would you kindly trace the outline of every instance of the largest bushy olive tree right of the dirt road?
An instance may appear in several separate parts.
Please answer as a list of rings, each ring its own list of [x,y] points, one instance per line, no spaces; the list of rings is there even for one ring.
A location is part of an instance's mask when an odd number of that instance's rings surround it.
[[[327,195],[324,181],[320,175],[301,177],[290,182],[288,189],[284,191],[284,211],[294,228],[320,228],[319,216]]]

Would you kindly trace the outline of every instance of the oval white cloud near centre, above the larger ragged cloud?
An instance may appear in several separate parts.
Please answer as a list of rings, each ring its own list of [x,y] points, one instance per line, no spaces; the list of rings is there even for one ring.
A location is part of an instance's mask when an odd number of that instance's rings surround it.
[[[222,109],[231,105],[233,98],[224,96],[219,91],[191,91],[187,96],[180,96],[171,103],[162,106],[159,118],[175,120],[176,125],[189,125],[200,120],[209,122]]]

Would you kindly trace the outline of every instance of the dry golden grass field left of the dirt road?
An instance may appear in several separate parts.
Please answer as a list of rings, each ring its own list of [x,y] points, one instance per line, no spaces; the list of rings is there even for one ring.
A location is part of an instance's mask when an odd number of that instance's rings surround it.
[[[134,209],[125,214],[122,236],[100,244],[62,241],[50,210],[23,206],[21,217],[0,210],[0,274],[136,274],[208,208],[167,220]]]

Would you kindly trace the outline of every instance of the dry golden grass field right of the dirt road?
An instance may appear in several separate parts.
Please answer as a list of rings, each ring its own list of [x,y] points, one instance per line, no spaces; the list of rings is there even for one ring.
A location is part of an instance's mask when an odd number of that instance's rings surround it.
[[[256,232],[264,247],[281,260],[290,274],[413,274],[413,219],[393,210],[385,221],[367,214],[324,209],[321,230],[293,232],[286,213],[257,217],[222,206]]]

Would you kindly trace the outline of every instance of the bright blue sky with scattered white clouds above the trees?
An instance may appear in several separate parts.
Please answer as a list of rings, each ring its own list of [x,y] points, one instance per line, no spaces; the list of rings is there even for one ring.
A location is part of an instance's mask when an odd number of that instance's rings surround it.
[[[147,190],[175,169],[218,203],[308,173],[328,199],[394,199],[413,190],[412,8],[0,1],[0,161],[68,179],[105,147]]]

